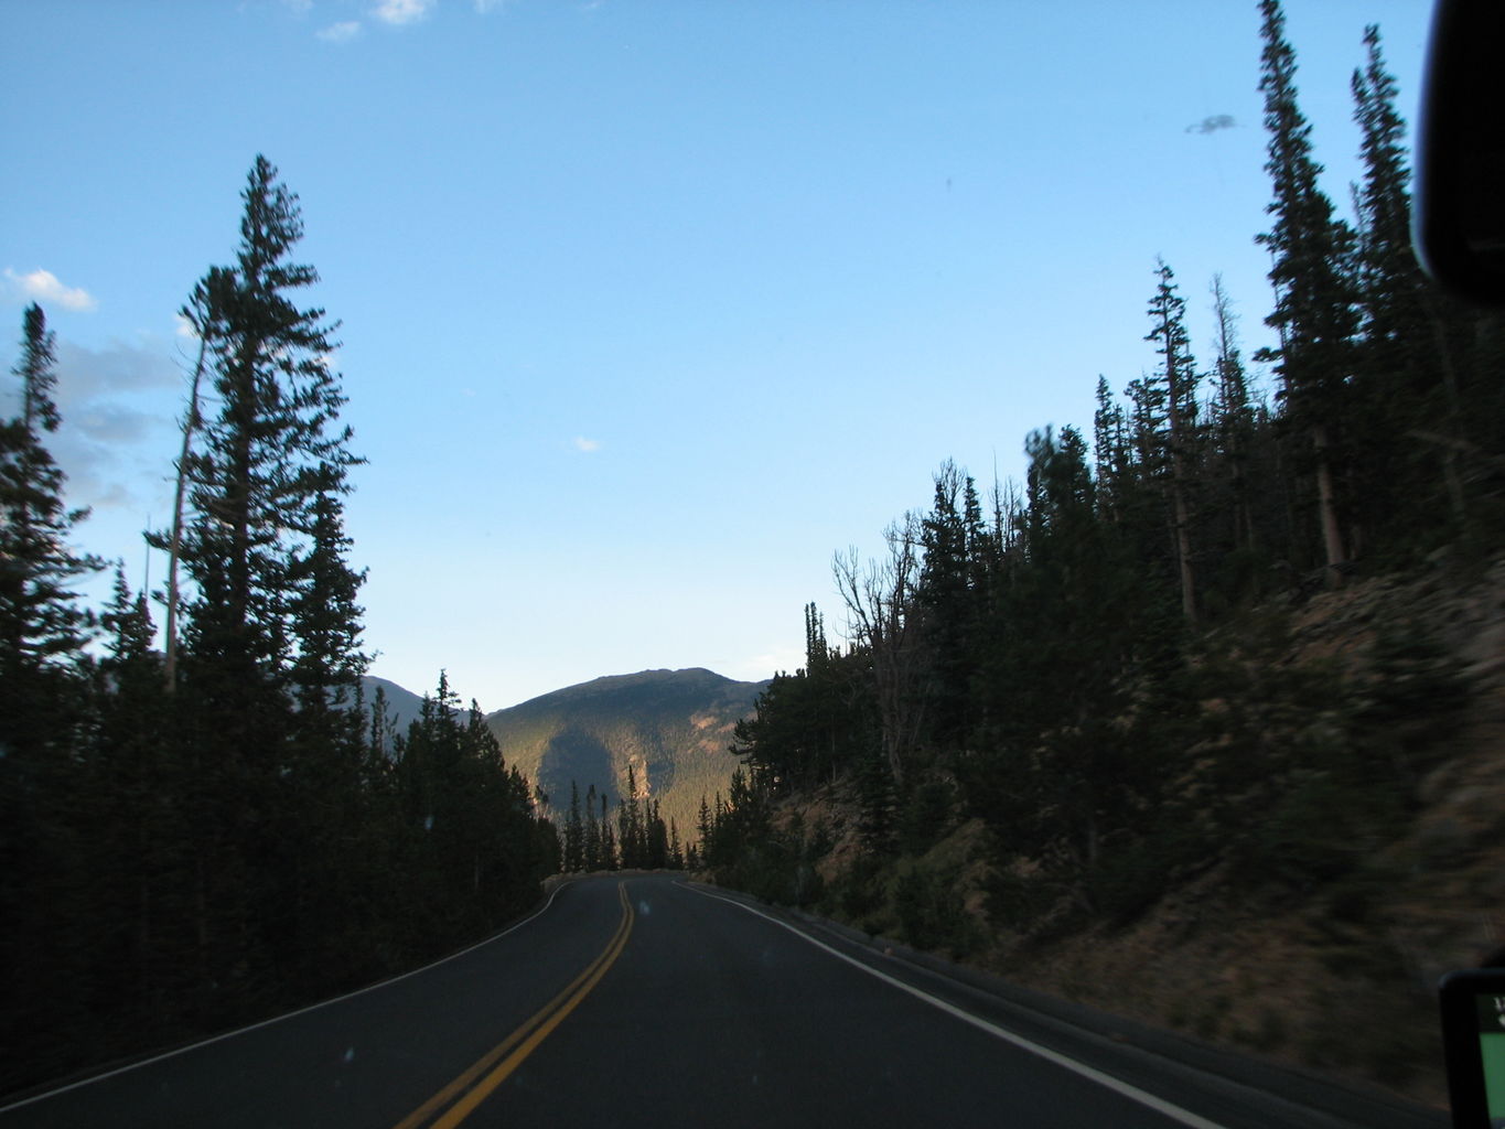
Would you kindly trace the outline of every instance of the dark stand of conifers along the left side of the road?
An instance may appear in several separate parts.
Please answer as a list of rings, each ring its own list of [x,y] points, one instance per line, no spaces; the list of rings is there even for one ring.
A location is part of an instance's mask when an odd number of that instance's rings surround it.
[[[166,646],[123,571],[77,586],[48,435],[54,337],[26,312],[0,428],[0,1091],[369,983],[485,935],[557,867],[552,825],[441,676],[394,732],[361,698],[351,432],[292,260],[296,197],[257,158],[197,334]]]

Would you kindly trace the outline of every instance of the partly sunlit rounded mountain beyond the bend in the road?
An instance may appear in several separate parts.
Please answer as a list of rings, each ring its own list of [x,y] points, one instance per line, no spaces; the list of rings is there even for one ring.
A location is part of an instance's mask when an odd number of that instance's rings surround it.
[[[664,820],[692,838],[700,798],[725,795],[737,759],[731,729],[752,712],[768,682],[736,682],[709,670],[644,670],[582,682],[486,717],[503,756],[569,810],[594,784],[616,811],[632,765],[640,793],[659,801]]]

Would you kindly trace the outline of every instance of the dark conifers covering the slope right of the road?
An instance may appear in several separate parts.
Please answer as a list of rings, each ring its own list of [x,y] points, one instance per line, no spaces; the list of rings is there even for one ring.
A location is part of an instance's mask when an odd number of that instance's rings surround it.
[[[1364,182],[1354,214],[1318,187],[1276,0],[1261,3],[1275,188],[1279,348],[1261,396],[1230,297],[1193,354],[1166,262],[1147,274],[1153,370],[1100,378],[1090,432],[1028,437],[1022,488],[980,494],[945,464],[882,560],[835,561],[846,647],[805,611],[805,665],[737,727],[745,774],[704,858],[772,897],[822,894],[829,846],[775,831],[781,795],[846,781],[862,876],[980,817],[992,906],[1123,918],[1198,867],[1300,887],[1350,876],[1409,805],[1458,685],[1424,632],[1382,631],[1362,676],[1291,665],[1282,608],[1364,575],[1497,552],[1505,531],[1505,333],[1418,269],[1404,123],[1377,29],[1353,74]],[[962,914],[944,882],[900,875],[915,939]],[[905,884],[909,884],[905,887]],[[948,900],[950,899],[950,900]],[[941,923],[941,924],[938,924]]]

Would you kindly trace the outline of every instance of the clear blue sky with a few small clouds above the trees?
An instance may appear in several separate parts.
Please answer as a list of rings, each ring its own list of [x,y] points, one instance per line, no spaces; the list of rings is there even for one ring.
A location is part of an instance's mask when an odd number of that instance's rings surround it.
[[[1415,120],[1430,5],[1287,0],[1339,209],[1379,23]],[[343,322],[373,673],[498,709],[802,661],[831,557],[953,458],[1121,390],[1156,256],[1269,340],[1254,0],[0,0],[0,360],[60,343],[83,546],[147,563],[187,342],[265,154]]]

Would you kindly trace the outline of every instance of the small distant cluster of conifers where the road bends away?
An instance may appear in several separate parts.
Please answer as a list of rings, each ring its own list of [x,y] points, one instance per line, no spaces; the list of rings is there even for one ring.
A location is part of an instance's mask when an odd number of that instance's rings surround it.
[[[584,804],[584,808],[581,807]],[[694,843],[686,849],[674,819],[665,823],[658,799],[638,787],[638,774],[628,765],[628,789],[617,801],[616,829],[607,813],[607,793],[596,786],[585,789],[570,781],[569,810],[560,828],[560,869],[564,873],[597,870],[683,870],[698,866]]]

